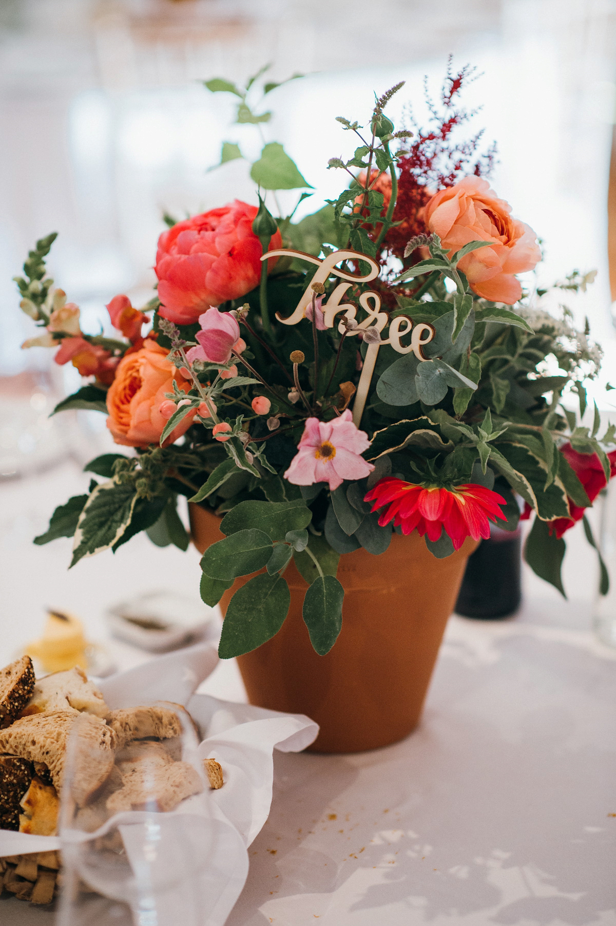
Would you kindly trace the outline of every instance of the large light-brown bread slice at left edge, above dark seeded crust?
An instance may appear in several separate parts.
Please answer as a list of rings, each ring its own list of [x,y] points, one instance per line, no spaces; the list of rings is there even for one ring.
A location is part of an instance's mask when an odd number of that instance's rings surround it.
[[[71,793],[81,807],[106,781],[114,765],[116,734],[98,717],[55,710],[31,714],[0,730],[0,753],[12,753],[31,762],[44,762],[55,790],[60,793],[65,771],[68,737],[79,723],[79,748]]]

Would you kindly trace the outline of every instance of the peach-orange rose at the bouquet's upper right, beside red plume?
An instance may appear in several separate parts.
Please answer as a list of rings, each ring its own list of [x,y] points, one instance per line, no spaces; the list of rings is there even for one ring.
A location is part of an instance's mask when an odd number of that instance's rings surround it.
[[[511,206],[479,177],[465,177],[433,196],[425,206],[425,223],[450,256],[472,241],[487,243],[462,257],[458,267],[473,292],[493,302],[517,302],[522,286],[514,274],[541,260],[535,232],[511,219]]]

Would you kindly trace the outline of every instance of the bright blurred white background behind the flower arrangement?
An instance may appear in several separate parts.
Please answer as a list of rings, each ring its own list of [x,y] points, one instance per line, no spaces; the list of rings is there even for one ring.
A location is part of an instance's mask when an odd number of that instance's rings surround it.
[[[605,350],[591,394],[612,414],[615,393],[604,385],[610,377],[616,384],[615,52],[616,0],[0,0],[0,474],[12,486],[0,531],[5,568],[15,557],[21,570],[8,583],[7,607],[19,609],[24,596],[41,607],[41,591],[25,590],[28,562],[41,570],[50,604],[55,594],[63,607],[90,607],[97,620],[92,588],[108,581],[111,556],[80,564],[80,581],[71,582],[68,541],[30,545],[53,507],[87,485],[67,457],[82,467],[111,444],[102,415],[69,413],[61,427],[49,419],[57,399],[79,387],[79,374],[57,367],[53,351],[19,349],[34,326],[18,309],[11,278],[29,247],[59,232],[50,272],[80,305],[84,330],[97,332],[108,324],[112,296],[127,293],[142,305],[152,294],[164,211],[181,218],[236,196],[256,202],[250,160],[212,169],[223,142],[252,159],[264,138],[284,144],[314,186],[301,218],[343,184],[326,162],[354,145],[335,117],[362,123],[373,92],[404,80],[388,115],[400,119],[412,105],[425,121],[424,78],[437,96],[450,55],[454,70],[469,63],[482,75],[463,95],[465,106],[481,107],[469,133],[484,128],[486,146],[497,141],[492,185],[544,242],[537,282],[597,270],[587,292],[567,303],[580,325],[589,319]],[[268,63],[267,80],[306,76],[263,105],[255,94],[255,110],[272,112],[262,137],[253,125],[232,124],[237,98],[211,94],[203,81],[243,83]],[[294,191],[288,195],[283,207],[294,205]],[[63,458],[45,481],[17,487],[17,475]],[[553,614],[555,622],[589,624],[596,560],[580,532],[571,532],[565,562],[569,605],[524,573],[531,610],[543,608],[544,622]],[[124,585],[134,590],[143,544],[136,538],[117,557],[117,596]],[[194,584],[193,557],[147,545],[153,568],[159,556],[163,573]],[[140,581],[150,587],[146,576]]]

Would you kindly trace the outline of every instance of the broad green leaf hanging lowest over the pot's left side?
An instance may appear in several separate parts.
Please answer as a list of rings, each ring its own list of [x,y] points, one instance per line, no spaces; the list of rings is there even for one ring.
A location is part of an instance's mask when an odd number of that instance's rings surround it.
[[[281,576],[265,572],[246,582],[228,603],[218,656],[232,659],[270,640],[282,627],[289,606],[289,585]]]

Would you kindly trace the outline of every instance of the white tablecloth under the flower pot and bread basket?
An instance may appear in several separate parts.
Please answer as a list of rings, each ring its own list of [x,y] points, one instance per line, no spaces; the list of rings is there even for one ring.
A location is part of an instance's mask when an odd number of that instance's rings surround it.
[[[70,572],[68,541],[32,546],[80,479],[67,464],[0,491],[2,664],[40,632],[45,605],[105,641],[113,601],[197,588],[194,551],[143,537]],[[577,529],[565,575],[568,602],[524,571],[515,619],[450,620],[424,719],[402,743],[277,755],[228,926],[616,926],[616,653],[589,629],[595,565]],[[106,642],[122,668],[146,657]],[[244,697],[232,662],[202,690]],[[52,920],[0,898],[5,921]]]

